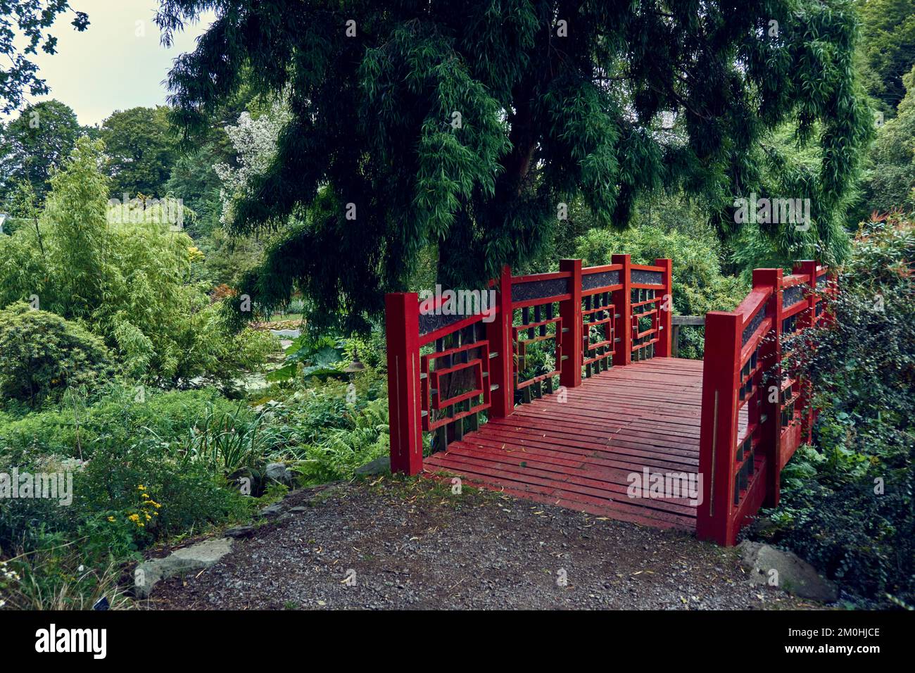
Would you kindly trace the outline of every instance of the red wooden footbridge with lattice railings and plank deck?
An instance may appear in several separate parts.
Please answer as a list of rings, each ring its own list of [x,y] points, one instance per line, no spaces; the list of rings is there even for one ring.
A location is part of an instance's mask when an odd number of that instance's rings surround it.
[[[827,271],[754,271],[736,310],[706,315],[702,361],[671,356],[672,273],[614,255],[505,267],[472,309],[389,294],[392,470],[734,544],[809,434],[781,338],[824,320]]]

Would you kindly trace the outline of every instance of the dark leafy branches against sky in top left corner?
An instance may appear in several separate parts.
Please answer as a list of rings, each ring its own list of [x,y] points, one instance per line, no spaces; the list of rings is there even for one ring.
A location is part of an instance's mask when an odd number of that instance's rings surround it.
[[[57,38],[45,32],[58,15],[70,9],[68,0],[0,0],[0,54],[9,61],[0,66],[0,110],[8,114],[23,103],[23,94],[48,93],[48,85],[38,78],[38,66],[27,57],[38,47],[55,53]],[[89,27],[89,15],[73,12],[70,24],[77,30]]]

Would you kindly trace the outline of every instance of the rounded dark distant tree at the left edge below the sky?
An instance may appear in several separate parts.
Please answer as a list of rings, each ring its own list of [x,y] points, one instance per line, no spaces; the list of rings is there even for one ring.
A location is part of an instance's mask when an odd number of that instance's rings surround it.
[[[81,131],[70,105],[56,100],[28,105],[0,139],[0,196],[27,180],[38,200],[44,199],[52,170],[70,155]]]

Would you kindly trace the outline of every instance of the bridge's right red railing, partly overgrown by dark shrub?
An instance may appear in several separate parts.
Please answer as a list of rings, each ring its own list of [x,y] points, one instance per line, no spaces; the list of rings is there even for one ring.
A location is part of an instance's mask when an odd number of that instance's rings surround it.
[[[827,270],[799,262],[791,276],[756,269],[734,311],[705,316],[696,534],[733,545],[762,505],[778,505],[780,472],[813,422],[806,382],[780,371],[782,336],[823,319]]]

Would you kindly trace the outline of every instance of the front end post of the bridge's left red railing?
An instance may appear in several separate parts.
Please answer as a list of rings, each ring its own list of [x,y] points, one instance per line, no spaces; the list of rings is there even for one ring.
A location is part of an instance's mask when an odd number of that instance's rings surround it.
[[[419,296],[415,292],[385,295],[384,324],[388,347],[391,472],[417,474],[423,469]]]

